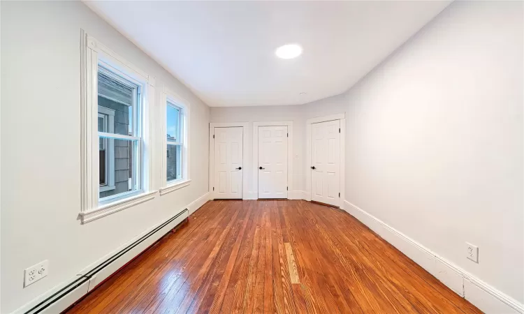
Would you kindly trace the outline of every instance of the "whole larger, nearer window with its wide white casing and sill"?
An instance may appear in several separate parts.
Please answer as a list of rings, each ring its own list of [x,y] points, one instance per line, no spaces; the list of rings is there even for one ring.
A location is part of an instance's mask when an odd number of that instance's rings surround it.
[[[82,223],[154,197],[154,79],[82,32]]]

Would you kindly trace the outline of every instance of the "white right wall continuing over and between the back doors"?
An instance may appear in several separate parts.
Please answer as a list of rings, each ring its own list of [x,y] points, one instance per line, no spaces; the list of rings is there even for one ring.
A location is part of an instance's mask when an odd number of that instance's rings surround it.
[[[293,119],[299,133],[346,112],[347,201],[522,304],[523,40],[522,2],[456,1],[345,94],[211,121]],[[304,133],[295,147],[303,189]]]

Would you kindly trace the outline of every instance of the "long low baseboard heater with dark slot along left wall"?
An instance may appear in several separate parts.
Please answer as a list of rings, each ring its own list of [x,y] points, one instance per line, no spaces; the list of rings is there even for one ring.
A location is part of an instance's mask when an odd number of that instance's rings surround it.
[[[66,301],[66,307],[64,307],[62,305],[62,306],[57,306],[57,308],[55,308],[56,306],[54,306],[54,305],[57,304],[57,302],[61,301],[62,299],[68,297],[68,294],[71,294],[71,292],[73,292],[74,290],[78,289],[79,287],[82,287],[82,285],[86,285],[87,283],[89,283],[89,281],[91,281],[92,278],[95,278],[94,276],[96,276],[96,274],[99,274],[106,267],[108,267],[110,264],[112,264],[113,262],[118,260],[120,257],[124,256],[126,253],[131,251],[133,248],[136,248],[136,246],[139,246],[144,241],[147,241],[147,239],[150,239],[154,235],[158,235],[157,232],[162,230],[164,227],[166,227],[169,224],[173,223],[177,219],[180,220],[178,222],[178,223],[180,223],[180,222],[182,222],[182,220],[184,218],[187,218],[188,216],[189,216],[189,209],[184,209],[184,210],[180,211],[180,213],[175,215],[175,216],[173,216],[173,218],[170,218],[165,223],[162,223],[161,225],[159,225],[158,227],[154,228],[150,232],[147,232],[147,234],[145,234],[143,237],[140,237],[140,239],[134,241],[132,244],[129,244],[129,246],[126,246],[125,248],[123,248],[121,251],[119,251],[115,255],[112,255],[107,260],[101,262],[100,264],[98,264],[96,267],[94,267],[90,271],[87,271],[86,274],[84,274],[82,276],[79,276],[78,279],[76,279],[75,281],[69,283],[65,287],[62,287],[57,292],[54,292],[53,294],[51,294],[50,297],[44,299],[40,303],[36,304],[36,306],[31,307],[28,311],[25,311],[23,313],[24,314],[43,313],[43,312],[50,311],[51,308],[54,308],[52,310],[53,313],[59,313],[61,311],[64,311],[68,306],[71,306],[71,304],[73,304],[75,301],[78,301],[79,298],[75,297],[76,295],[80,295],[80,297],[82,297],[84,294],[87,294],[87,292],[89,290],[92,290],[92,289],[87,290],[87,288],[89,288],[89,287],[86,287],[85,293],[84,292],[80,292],[80,294],[75,294],[75,296],[73,296],[73,299],[71,299],[71,300],[64,300],[64,301]],[[173,225],[173,227],[178,225],[178,223]],[[163,235],[164,234],[161,234],[161,236],[163,236]],[[160,239],[160,237],[159,237],[159,239]],[[152,242],[152,243],[154,243],[154,242]],[[145,250],[145,248],[144,248],[144,250]],[[143,251],[140,251],[140,253],[142,253],[142,252]],[[133,257],[131,257],[129,260],[132,260]],[[117,269],[119,269],[119,267]],[[110,274],[112,274],[112,272]],[[69,304],[67,304],[67,303],[69,303]],[[58,311],[56,311],[56,310],[58,310]]]

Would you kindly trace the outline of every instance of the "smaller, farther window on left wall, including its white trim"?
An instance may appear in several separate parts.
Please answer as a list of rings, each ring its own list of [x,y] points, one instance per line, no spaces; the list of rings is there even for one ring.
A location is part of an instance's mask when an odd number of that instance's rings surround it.
[[[165,105],[161,195],[189,185],[189,103],[164,88]]]

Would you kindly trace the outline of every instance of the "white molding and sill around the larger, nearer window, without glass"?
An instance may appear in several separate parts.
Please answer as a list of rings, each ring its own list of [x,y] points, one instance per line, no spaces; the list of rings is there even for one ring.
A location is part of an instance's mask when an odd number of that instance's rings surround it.
[[[80,125],[81,125],[81,206],[80,218],[82,223],[87,223],[102,216],[107,216],[122,209],[140,204],[154,198],[156,191],[150,190],[152,172],[150,171],[150,145],[151,133],[149,129],[150,111],[154,104],[154,77],[125,61],[118,54],[110,50],[98,40],[81,30],[80,40]],[[98,132],[98,68],[99,63],[108,64],[119,73],[129,75],[133,80],[139,81],[143,87],[140,98],[140,151],[136,160],[142,167],[140,178],[140,191],[129,194],[125,199],[99,204],[99,132]],[[151,105],[150,105],[151,104]],[[151,115],[153,116],[153,115]],[[134,123],[136,119],[133,119]],[[117,138],[115,134],[108,137]],[[102,135],[101,135],[102,136]],[[101,213],[101,214],[97,214]],[[96,218],[94,218],[96,217]]]

